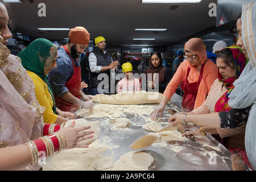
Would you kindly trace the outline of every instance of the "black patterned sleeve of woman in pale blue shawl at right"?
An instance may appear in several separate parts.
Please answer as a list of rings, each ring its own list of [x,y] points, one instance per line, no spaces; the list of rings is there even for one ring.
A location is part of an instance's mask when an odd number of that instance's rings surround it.
[[[218,113],[220,116],[220,125],[222,128],[234,129],[247,122],[251,106],[245,109],[230,109]]]

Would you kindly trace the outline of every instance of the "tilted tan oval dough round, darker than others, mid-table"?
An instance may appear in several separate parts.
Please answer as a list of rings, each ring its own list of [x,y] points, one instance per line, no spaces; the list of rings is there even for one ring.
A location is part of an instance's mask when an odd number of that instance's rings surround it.
[[[141,138],[138,138],[135,142],[130,145],[130,148],[133,150],[145,148],[151,146],[156,140],[159,140],[158,134],[148,134],[144,135]]]

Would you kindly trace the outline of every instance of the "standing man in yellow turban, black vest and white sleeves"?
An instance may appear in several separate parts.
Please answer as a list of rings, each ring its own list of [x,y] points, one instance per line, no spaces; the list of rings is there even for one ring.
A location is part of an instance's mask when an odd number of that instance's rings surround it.
[[[104,85],[104,93],[110,93],[110,75],[114,75],[114,70],[119,64],[117,60],[113,61],[108,51],[105,50],[106,40],[103,36],[98,36],[94,42],[96,46],[89,55],[91,93],[92,95],[99,94],[98,85],[104,80],[104,78],[97,79],[101,73],[106,73],[109,82],[108,85]]]

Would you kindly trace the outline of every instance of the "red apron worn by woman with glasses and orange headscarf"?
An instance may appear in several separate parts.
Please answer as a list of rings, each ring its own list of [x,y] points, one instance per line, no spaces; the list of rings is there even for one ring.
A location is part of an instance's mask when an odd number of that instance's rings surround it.
[[[185,80],[181,83],[181,89],[184,91],[183,99],[181,102],[181,109],[185,112],[190,112],[194,109],[198,88],[203,78],[204,64],[201,66],[199,80],[191,84],[189,84],[188,82],[188,74],[190,70],[191,68],[188,68],[187,76]]]

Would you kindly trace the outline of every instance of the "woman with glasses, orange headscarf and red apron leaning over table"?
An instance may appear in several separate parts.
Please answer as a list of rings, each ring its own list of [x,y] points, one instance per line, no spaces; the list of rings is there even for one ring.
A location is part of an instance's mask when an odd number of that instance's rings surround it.
[[[152,119],[158,118],[158,114],[159,117],[162,117],[164,107],[180,84],[184,91],[181,109],[189,112],[201,106],[207,98],[214,80],[218,77],[216,65],[207,59],[207,51],[202,39],[190,39],[185,43],[184,51],[185,60],[167,85],[163,93],[163,100],[152,111]]]

